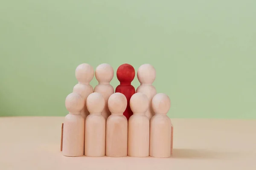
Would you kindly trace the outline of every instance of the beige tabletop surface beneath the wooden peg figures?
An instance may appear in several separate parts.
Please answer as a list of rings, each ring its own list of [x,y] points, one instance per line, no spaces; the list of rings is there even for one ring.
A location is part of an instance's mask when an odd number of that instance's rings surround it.
[[[64,117],[0,117],[0,170],[256,170],[256,120],[172,119],[170,158],[66,157]]]

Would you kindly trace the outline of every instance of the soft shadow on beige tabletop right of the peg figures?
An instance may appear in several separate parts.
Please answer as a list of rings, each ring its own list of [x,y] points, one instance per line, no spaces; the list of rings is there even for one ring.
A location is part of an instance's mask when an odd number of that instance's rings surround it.
[[[172,158],[177,159],[232,159],[239,153],[218,152],[202,149],[173,149]]]

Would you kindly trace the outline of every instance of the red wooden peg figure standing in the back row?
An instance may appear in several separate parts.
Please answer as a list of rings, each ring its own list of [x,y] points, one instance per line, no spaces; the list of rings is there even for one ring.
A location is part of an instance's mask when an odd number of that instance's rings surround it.
[[[116,77],[120,82],[120,85],[116,87],[116,93],[122,93],[127,99],[127,107],[123,113],[127,120],[133,114],[130,108],[130,99],[133,94],[135,94],[135,88],[131,85],[132,80],[135,77],[135,70],[132,65],[122,64],[117,68]]]

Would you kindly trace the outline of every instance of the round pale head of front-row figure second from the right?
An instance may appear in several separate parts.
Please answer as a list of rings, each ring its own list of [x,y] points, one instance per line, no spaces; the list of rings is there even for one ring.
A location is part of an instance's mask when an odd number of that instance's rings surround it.
[[[145,113],[148,110],[148,104],[148,97],[143,93],[135,93],[131,96],[130,107],[134,114]]]

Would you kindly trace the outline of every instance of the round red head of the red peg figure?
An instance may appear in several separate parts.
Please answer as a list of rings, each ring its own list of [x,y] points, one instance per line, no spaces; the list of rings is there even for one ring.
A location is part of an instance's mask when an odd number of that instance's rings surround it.
[[[135,77],[134,67],[130,64],[122,64],[117,68],[116,77],[120,83],[131,83]]]

